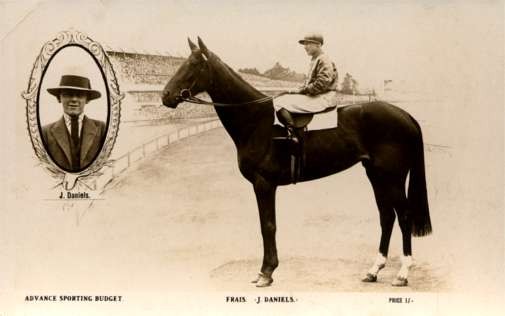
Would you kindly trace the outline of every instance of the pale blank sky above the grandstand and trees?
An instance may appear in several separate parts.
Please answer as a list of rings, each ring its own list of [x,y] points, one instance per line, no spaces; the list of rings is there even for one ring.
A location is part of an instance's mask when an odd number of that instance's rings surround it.
[[[349,72],[370,88],[391,79],[421,90],[470,89],[465,78],[496,71],[503,58],[501,1],[21,1],[0,8],[2,39],[21,33],[34,48],[75,28],[104,46],[187,56],[186,38],[200,36],[230,66],[260,71],[280,62],[305,73],[309,58],[297,41],[319,32],[340,78]]]

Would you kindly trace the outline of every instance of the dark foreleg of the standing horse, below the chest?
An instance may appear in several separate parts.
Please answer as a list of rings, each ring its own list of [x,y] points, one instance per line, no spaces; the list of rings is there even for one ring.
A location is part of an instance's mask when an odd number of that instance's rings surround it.
[[[272,282],[272,273],[279,265],[277,246],[275,244],[275,191],[276,186],[261,179],[254,184],[256,201],[261,222],[261,235],[263,237],[263,264],[257,279],[253,281],[257,287],[269,286]]]

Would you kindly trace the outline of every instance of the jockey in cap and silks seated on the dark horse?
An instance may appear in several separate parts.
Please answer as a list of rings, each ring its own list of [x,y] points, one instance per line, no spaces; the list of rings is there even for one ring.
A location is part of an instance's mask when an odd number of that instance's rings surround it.
[[[311,56],[307,79],[301,88],[288,91],[288,95],[277,98],[274,104],[277,115],[284,119],[288,128],[293,125],[291,113],[318,113],[336,105],[336,93],[327,92],[336,90],[338,73],[321,48],[323,36],[310,34],[298,42]]]

